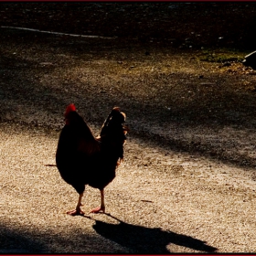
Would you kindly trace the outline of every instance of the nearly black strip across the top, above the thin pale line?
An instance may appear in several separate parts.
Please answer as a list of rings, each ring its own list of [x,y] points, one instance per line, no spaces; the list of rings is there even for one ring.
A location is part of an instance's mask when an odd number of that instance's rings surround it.
[[[123,37],[145,44],[254,50],[253,2],[2,2],[2,26]]]

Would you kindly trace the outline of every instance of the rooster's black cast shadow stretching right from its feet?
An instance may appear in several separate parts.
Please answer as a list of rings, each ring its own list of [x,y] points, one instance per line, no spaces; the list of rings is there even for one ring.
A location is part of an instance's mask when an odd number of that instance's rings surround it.
[[[168,244],[176,244],[190,248],[195,251],[215,252],[217,248],[209,246],[206,241],[197,240],[192,237],[166,231],[159,228],[146,228],[143,226],[128,224],[120,219],[106,214],[112,219],[119,221],[118,224],[106,223],[94,219],[96,223],[92,228],[102,237],[112,240],[135,253],[171,253],[167,250]]]

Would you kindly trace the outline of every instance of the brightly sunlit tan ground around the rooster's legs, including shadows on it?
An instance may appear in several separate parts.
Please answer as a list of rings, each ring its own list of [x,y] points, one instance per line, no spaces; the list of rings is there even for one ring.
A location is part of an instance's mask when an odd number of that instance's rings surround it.
[[[106,189],[113,218],[72,218],[76,192],[45,166],[58,133],[1,123],[1,138],[1,252],[255,251],[255,181],[240,168],[132,137]],[[99,205],[99,191],[88,187],[84,203]]]

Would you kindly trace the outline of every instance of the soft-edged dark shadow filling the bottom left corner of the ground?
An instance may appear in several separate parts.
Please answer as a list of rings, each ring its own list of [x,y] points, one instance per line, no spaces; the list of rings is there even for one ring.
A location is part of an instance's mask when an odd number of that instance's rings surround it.
[[[16,224],[17,227],[0,224],[0,254],[127,253],[101,236],[77,227],[27,230],[26,225]]]

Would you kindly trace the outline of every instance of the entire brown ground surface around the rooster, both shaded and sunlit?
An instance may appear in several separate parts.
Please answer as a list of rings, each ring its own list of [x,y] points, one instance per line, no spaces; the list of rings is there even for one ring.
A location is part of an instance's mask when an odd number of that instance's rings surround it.
[[[255,6],[0,3],[0,252],[255,252],[256,71],[240,61]],[[70,102],[95,135],[113,106],[127,114],[107,214],[64,214]]]

